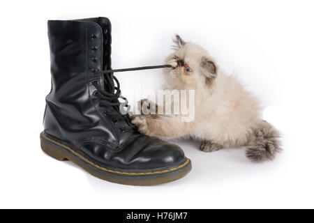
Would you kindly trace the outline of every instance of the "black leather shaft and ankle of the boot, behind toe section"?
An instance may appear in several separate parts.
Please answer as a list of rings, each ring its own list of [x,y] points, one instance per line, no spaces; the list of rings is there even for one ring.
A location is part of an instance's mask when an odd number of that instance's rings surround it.
[[[123,116],[113,122],[106,115],[117,111],[99,106],[93,84],[106,89],[104,75],[94,71],[111,69],[110,21],[48,21],[48,37],[52,89],[46,98],[45,132],[65,141],[102,137],[112,147],[123,144],[131,133],[121,127],[129,123]]]

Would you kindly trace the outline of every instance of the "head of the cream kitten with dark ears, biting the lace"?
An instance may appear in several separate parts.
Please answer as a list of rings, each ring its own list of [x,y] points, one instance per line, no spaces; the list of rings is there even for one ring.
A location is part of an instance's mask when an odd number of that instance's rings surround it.
[[[174,40],[176,52],[167,57],[165,63],[174,66],[165,72],[174,82],[190,87],[206,84],[217,75],[214,62],[202,47],[185,43],[179,36]]]

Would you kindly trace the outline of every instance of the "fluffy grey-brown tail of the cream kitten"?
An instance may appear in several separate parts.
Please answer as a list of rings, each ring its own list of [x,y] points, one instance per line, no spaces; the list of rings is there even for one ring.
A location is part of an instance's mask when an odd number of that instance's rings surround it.
[[[279,137],[279,132],[270,123],[261,121],[248,139],[246,157],[253,162],[273,160],[282,150]]]

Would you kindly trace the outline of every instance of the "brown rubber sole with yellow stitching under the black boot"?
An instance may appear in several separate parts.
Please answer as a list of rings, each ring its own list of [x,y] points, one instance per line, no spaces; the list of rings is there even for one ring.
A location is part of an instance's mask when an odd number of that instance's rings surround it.
[[[100,166],[91,158],[75,152],[70,145],[48,136],[45,132],[40,133],[40,146],[47,155],[56,160],[70,160],[97,178],[125,185],[157,185],[171,182],[186,176],[192,168],[188,158],[185,158],[184,162],[167,169],[145,169],[141,171],[139,169],[110,168],[103,164]]]

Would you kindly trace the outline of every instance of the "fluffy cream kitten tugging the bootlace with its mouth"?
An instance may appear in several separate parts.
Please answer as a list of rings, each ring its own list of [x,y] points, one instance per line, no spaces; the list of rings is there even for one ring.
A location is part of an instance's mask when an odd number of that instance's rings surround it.
[[[170,89],[195,90],[195,119],[186,123],[180,115],[134,116],[138,130],[168,139],[193,137],[201,141],[204,152],[245,146],[250,160],[273,160],[281,151],[279,134],[270,123],[262,121],[257,98],[235,77],[223,74],[199,45],[185,43],[179,36],[174,43],[176,52],[166,64],[176,68],[165,69],[165,75]],[[187,67],[192,70],[188,72]]]

